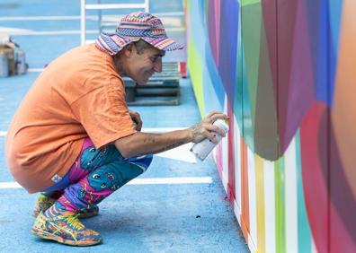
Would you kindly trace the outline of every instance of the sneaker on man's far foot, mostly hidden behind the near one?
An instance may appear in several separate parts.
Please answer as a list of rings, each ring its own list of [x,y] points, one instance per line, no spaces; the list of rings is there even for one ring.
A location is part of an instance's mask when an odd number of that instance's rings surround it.
[[[32,215],[37,217],[40,212],[44,212],[51,205],[56,202],[57,199],[40,194],[39,198],[36,201],[35,207],[33,208]],[[91,205],[89,208],[80,210],[78,214],[79,219],[90,218],[99,214],[99,207],[97,205]]]

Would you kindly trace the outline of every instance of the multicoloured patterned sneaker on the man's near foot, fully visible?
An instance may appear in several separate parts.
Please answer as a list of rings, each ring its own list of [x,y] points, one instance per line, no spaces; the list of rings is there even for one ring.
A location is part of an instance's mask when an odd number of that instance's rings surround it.
[[[54,217],[47,217],[40,212],[32,226],[31,233],[41,239],[56,240],[72,246],[102,243],[102,236],[99,232],[86,229],[77,216],[76,213],[64,212]]]

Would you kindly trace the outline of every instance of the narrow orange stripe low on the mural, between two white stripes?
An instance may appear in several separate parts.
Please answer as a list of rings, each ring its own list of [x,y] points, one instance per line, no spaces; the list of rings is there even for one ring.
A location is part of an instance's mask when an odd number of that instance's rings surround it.
[[[247,170],[247,145],[244,138],[240,137],[241,143],[241,193],[242,193],[242,214],[241,228],[245,239],[248,240],[248,231],[250,231],[250,210],[248,200],[248,170]]]

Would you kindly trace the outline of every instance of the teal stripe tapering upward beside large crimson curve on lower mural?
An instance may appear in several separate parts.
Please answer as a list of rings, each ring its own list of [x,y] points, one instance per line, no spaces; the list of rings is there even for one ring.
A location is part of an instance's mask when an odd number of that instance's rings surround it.
[[[307,209],[304,200],[303,178],[301,171],[300,135],[296,134],[297,194],[298,194],[298,249],[309,253],[311,248],[311,232],[307,220]]]

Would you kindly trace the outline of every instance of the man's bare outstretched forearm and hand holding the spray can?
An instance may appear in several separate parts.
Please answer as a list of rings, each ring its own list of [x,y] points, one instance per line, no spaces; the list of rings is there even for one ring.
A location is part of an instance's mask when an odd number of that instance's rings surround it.
[[[137,132],[116,140],[115,145],[122,156],[129,158],[148,153],[161,153],[190,142],[199,143],[204,138],[209,138],[212,142],[217,143],[217,139],[211,132],[225,136],[222,129],[212,125],[218,118],[227,118],[227,116],[219,112],[211,112],[206,118],[190,128],[165,134]]]

